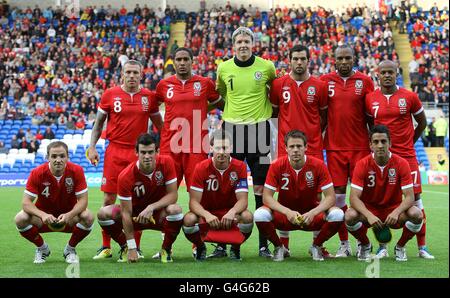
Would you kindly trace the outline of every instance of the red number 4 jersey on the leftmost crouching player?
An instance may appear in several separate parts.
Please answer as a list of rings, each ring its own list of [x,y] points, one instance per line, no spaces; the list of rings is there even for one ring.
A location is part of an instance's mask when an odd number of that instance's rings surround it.
[[[72,210],[77,196],[87,191],[83,168],[70,161],[59,181],[47,162],[31,171],[25,187],[26,194],[37,198],[36,207],[55,217]]]

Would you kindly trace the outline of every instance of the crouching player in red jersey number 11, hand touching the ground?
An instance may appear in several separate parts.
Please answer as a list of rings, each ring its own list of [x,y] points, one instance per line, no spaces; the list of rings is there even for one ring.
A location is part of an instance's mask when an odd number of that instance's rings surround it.
[[[160,260],[173,262],[172,244],[180,232],[183,214],[176,204],[177,174],[173,160],[158,155],[157,151],[153,136],[145,133],[138,137],[138,161],[127,166],[118,178],[120,206],[102,207],[97,214],[102,229],[121,247],[118,262],[138,260],[134,231],[147,229],[165,233]]]

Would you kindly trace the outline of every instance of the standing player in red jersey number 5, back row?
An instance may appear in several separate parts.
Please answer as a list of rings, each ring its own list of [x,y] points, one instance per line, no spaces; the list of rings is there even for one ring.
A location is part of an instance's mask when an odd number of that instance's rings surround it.
[[[356,162],[370,153],[365,96],[374,90],[372,79],[353,70],[355,54],[349,45],[338,46],[334,52],[336,72],[320,77],[328,85],[328,121],[324,146],[327,167],[336,192],[336,206],[344,212],[347,183]],[[342,133],[345,132],[345,133]],[[341,243],[336,258],[352,254],[347,228],[339,228]]]

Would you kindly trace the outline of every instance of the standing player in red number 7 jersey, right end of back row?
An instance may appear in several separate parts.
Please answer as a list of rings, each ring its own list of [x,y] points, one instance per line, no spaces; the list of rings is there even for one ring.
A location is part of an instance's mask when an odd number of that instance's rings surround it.
[[[426,216],[420,194],[422,193],[419,164],[417,162],[414,143],[420,138],[427,126],[427,119],[422,103],[416,93],[396,85],[397,64],[390,60],[382,61],[378,66],[380,89],[366,96],[366,113],[371,116],[369,125],[385,125],[392,140],[392,153],[406,159],[411,168],[414,184],[416,206],[422,210],[424,223],[417,233],[418,256],[434,259],[426,247]],[[412,120],[417,122],[414,128]],[[373,123],[373,124],[372,124]],[[377,252],[381,257],[387,254],[385,246],[381,245]]]

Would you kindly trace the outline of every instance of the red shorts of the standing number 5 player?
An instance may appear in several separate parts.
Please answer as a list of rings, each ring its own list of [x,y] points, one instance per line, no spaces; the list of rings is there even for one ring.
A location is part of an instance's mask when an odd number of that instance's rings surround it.
[[[346,186],[356,163],[369,154],[369,150],[327,151],[327,167],[334,186]]]

